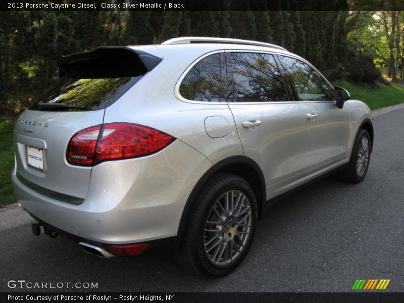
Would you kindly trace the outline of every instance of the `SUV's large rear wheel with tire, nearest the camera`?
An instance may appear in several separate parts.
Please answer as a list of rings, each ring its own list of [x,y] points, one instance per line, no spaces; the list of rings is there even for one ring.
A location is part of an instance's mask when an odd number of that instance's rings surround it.
[[[246,256],[257,221],[257,200],[251,186],[239,176],[217,174],[195,200],[183,242],[175,251],[176,260],[199,275],[224,276]]]

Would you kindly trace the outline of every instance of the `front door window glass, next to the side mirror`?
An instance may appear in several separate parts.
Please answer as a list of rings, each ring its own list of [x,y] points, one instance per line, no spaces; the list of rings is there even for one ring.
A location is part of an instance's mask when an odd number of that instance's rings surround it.
[[[291,57],[282,59],[299,101],[333,100],[331,86],[310,65]]]

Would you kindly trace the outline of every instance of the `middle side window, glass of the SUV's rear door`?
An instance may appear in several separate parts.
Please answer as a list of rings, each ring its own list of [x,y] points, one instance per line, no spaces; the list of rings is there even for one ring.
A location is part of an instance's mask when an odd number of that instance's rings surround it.
[[[282,75],[274,56],[231,53],[234,102],[287,101]]]

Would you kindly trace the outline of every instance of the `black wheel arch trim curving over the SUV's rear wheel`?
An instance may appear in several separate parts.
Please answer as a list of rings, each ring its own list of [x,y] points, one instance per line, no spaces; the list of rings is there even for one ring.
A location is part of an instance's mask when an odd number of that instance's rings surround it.
[[[265,178],[259,165],[252,159],[245,156],[233,156],[219,161],[212,166],[195,184],[182,211],[180,223],[177,230],[177,243],[180,244],[185,234],[185,228],[188,223],[193,201],[203,186],[209,181],[209,178],[217,173],[231,173],[245,179],[254,190],[257,198],[258,218],[261,217],[266,201]]]

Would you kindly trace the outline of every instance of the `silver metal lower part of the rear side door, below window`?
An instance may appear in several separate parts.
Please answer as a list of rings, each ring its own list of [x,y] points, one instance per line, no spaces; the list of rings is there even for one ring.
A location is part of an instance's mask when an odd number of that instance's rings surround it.
[[[229,103],[244,155],[263,171],[266,185],[304,177],[306,161],[306,121],[294,103]],[[287,117],[287,119],[285,119]],[[243,127],[244,121],[261,121],[257,127]]]

